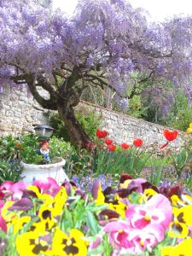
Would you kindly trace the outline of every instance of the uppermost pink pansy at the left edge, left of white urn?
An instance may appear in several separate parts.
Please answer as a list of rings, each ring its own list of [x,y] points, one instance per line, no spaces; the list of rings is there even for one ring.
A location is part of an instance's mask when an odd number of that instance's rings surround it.
[[[26,183],[18,182],[14,183],[12,181],[5,181],[1,184],[0,190],[4,193],[4,196],[11,196],[11,200],[20,200],[26,189]]]

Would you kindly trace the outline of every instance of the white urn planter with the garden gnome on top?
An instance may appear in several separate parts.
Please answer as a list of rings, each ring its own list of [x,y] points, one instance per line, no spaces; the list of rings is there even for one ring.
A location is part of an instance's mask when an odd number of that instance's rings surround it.
[[[46,177],[53,177],[61,185],[65,180],[69,180],[62,168],[65,166],[65,163],[66,160],[64,159],[55,164],[48,165],[33,165],[21,162],[20,165],[23,166],[22,181],[30,185],[34,180],[44,180]]]

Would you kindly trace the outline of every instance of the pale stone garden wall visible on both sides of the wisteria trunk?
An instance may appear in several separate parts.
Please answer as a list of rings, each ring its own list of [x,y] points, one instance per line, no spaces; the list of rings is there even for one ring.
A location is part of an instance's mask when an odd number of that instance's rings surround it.
[[[132,143],[137,137],[143,138],[146,144],[165,142],[163,137],[165,126],[135,119],[90,103],[80,102],[79,107],[90,108],[101,114],[101,128],[106,129],[117,143]],[[33,100],[32,96],[27,94],[25,86],[20,90],[10,89],[7,86],[0,95],[0,136],[18,135],[24,131],[32,132],[33,125],[45,125],[47,119],[44,117],[44,112],[45,110]],[[179,132],[180,136],[172,143],[173,146],[181,145],[181,134]]]

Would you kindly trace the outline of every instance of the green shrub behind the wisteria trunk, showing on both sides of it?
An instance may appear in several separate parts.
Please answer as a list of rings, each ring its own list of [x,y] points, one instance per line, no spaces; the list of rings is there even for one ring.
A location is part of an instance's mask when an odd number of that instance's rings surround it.
[[[79,110],[75,113],[75,116],[87,135],[92,140],[95,140],[96,129],[101,124],[100,116],[93,110],[87,110],[84,108],[79,108]],[[58,113],[49,113],[49,124],[55,129],[55,137],[63,138],[66,142],[70,142],[67,128],[65,125],[63,125]]]

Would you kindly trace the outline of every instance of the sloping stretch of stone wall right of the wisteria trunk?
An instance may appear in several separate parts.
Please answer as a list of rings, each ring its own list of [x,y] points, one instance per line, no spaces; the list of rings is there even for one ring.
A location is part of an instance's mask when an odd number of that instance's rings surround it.
[[[84,106],[84,108],[93,109],[96,113],[101,114],[101,128],[107,130],[109,137],[116,143],[132,143],[136,138],[142,138],[147,145],[156,142],[160,144],[166,142],[163,131],[165,129],[170,130],[168,127],[150,123],[143,119],[136,119],[106,108],[100,108],[87,102],[86,104],[81,102],[79,105]],[[185,135],[184,132],[179,131],[179,136],[177,140],[172,142],[172,147],[180,148],[183,143],[183,136],[187,136],[187,134]]]

